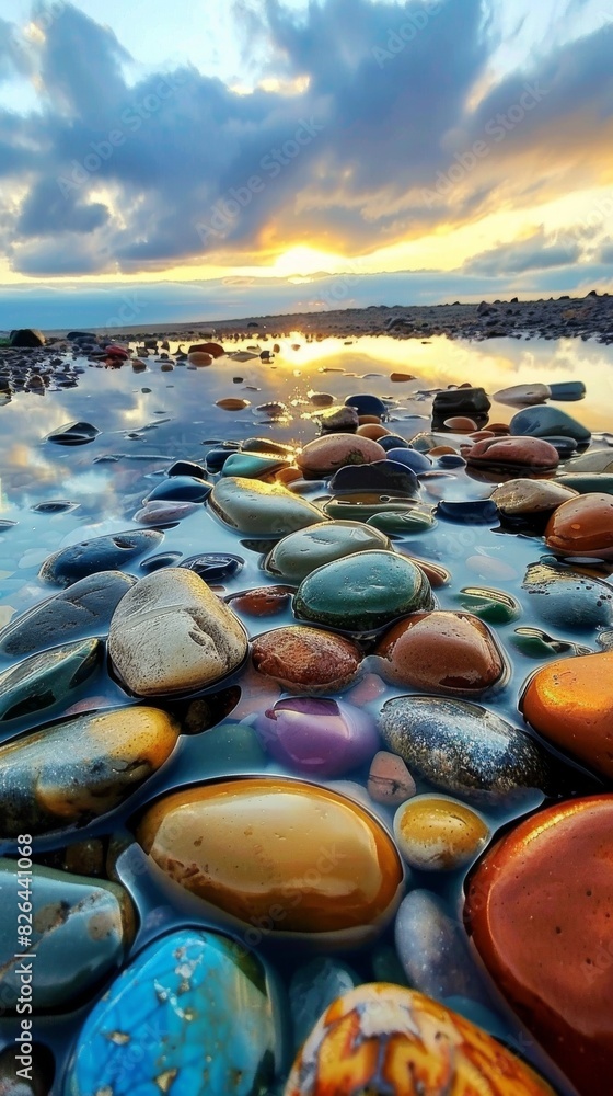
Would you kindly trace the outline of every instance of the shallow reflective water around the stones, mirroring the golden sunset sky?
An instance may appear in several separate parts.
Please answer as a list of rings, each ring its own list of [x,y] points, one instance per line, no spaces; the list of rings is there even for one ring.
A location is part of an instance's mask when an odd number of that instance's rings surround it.
[[[443,339],[427,343],[398,341],[391,338],[365,338],[350,344],[326,339],[308,342],[300,333],[279,340],[280,352],[271,363],[254,356],[246,362],[229,357],[218,359],[206,368],[189,368],[175,363],[172,372],[162,370],[162,362],[148,358],[147,369],[135,373],[130,364],[118,369],[106,369],[85,359],[68,359],[82,370],[76,387],[51,390],[51,385],[41,395],[16,391],[10,402],[0,407],[2,447],[0,452],[0,627],[14,615],[42,601],[56,587],[44,586],[37,579],[41,563],[58,548],[128,528],[138,528],[134,514],[143,496],[163,476],[169,465],[177,458],[203,463],[208,447],[216,439],[243,439],[250,436],[270,437],[296,443],[297,446],[316,435],[313,414],[316,408],[310,400],[312,392],[327,392],[338,402],[355,392],[372,392],[389,400],[389,422],[394,433],[409,439],[419,431],[429,430],[429,415],[433,390],[448,385],[469,381],[483,386],[488,392],[510,385],[533,383],[560,383],[582,380],[588,396],[572,404],[562,404],[593,432],[606,432],[613,426],[613,347],[593,342],[491,340],[487,343],[466,344]],[[242,342],[232,344],[232,351],[254,346],[271,349],[271,342]],[[296,347],[296,349],[293,349]],[[176,346],[171,345],[171,351]],[[256,354],[256,350],[253,352]],[[403,383],[390,380],[393,372],[414,375]],[[223,411],[216,401],[223,397],[242,397],[250,407],[242,411]],[[287,413],[270,421],[257,408],[270,401],[282,401]],[[494,404],[491,421],[508,421],[514,408]],[[60,446],[45,441],[46,435],[71,421],[93,423],[101,433],[85,445]],[[598,441],[598,439],[594,439]],[[608,438],[601,437],[600,444]],[[491,486],[470,479],[464,472],[430,478],[425,482],[424,501],[436,505],[439,499],[488,498]],[[321,486],[313,487],[308,498],[322,498]],[[65,500],[71,509],[59,513],[41,513],[34,507],[42,503]],[[2,527],[2,522],[15,522]],[[225,595],[248,590],[255,585],[273,584],[262,571],[262,556],[245,545],[245,538],[233,533],[218,521],[206,506],[199,506],[190,516],[165,528],[162,546],[154,552],[178,551],[184,556],[200,551],[230,551],[245,560],[243,569],[225,582],[218,592]],[[421,556],[444,564],[452,573],[451,584],[435,591],[441,608],[459,608],[458,594],[463,586],[489,585],[514,594],[521,601],[520,584],[529,563],[546,555],[539,537],[516,536],[487,525],[460,526],[439,521],[433,530],[396,541],[396,547],[409,555]],[[140,560],[126,570],[139,575]],[[523,598],[527,601],[527,598]],[[239,614],[240,615],[240,614]],[[270,628],[289,623],[289,609],[282,615],[266,618],[242,617],[250,635],[256,636]],[[511,722],[521,724],[517,711],[517,697],[522,683],[537,665],[537,661],[519,653],[512,644],[518,627],[542,627],[531,618],[525,605],[519,621],[496,626],[495,633],[510,661],[510,675],[504,688],[484,701]],[[577,642],[591,650],[595,635],[574,635],[562,628],[555,637],[569,643]],[[0,660],[0,671],[10,662]],[[239,673],[228,683],[238,684],[241,697],[229,717],[233,720],[248,718],[276,698],[277,689],[266,688],[253,674]],[[224,683],[225,685],[227,683]],[[217,689],[216,692],[218,692]],[[351,689],[344,698],[351,700]],[[366,701],[378,715],[383,699],[403,695],[408,689],[385,687]],[[71,703],[91,699],[90,708],[134,703],[113,682],[105,670],[90,680]],[[477,700],[477,703],[479,703]],[[360,700],[360,704],[363,704]],[[88,707],[88,705],[84,705]],[[61,709],[45,713],[45,721],[59,718]],[[12,738],[37,726],[39,719],[24,718],[11,724],[4,738]],[[161,772],[132,796],[123,811],[107,815],[88,827],[92,835],[124,833],[135,812],[162,791],[180,785],[222,776],[211,768],[203,756],[203,735],[183,737],[178,747]],[[268,772],[284,773],[281,766],[270,762]],[[576,777],[572,773],[576,772]],[[594,787],[582,774],[568,767],[568,786],[565,795],[575,787],[585,790]],[[292,775],[292,774],[288,774]],[[366,783],[367,769],[351,775],[354,787],[345,781],[331,784],[349,795],[357,795],[356,784]],[[428,790],[425,781],[418,791]],[[366,791],[363,792],[366,796]],[[493,834],[543,802],[540,792],[528,794],[513,813],[485,811]],[[390,824],[392,812],[370,804]],[[72,841],[82,840],[83,831],[60,837],[41,837],[35,841],[35,853],[61,848]],[[5,845],[9,854],[14,846]],[[128,848],[119,858],[118,870],[132,893],[141,916],[141,927],[131,954],[143,944],[177,924],[211,922],[203,917],[201,907],[187,895],[177,898],[174,887],[165,886],[147,867],[138,846]],[[440,893],[449,912],[460,918],[462,905],[462,875],[437,877],[432,874],[418,886],[429,887]],[[393,948],[390,932],[377,945],[375,951],[366,949],[349,956],[349,962],[363,978],[375,977],[373,959],[382,948]],[[308,952],[296,954],[277,940],[265,939],[263,952],[287,981],[291,971],[304,962]],[[346,958],[346,956],[344,956]],[[380,960],[381,961],[381,960]],[[477,960],[475,960],[477,961]],[[78,1014],[35,1020],[38,1041],[50,1046],[57,1055],[57,1081],[54,1092],[61,1091],[63,1059],[88,1005]],[[532,1037],[510,1014],[491,987],[491,1011],[497,1016],[496,1034],[506,1038],[516,1049],[545,1070],[540,1049]],[[0,1021],[0,1032],[12,1039],[14,1021]],[[291,1055],[290,1055],[291,1057]],[[550,1074],[551,1075],[551,1074]],[[559,1082],[560,1091],[565,1089]]]

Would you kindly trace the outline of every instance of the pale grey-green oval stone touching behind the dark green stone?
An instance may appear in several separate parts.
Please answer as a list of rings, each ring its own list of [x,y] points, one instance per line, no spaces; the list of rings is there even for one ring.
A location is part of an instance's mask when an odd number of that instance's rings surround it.
[[[266,557],[264,569],[298,585],[324,563],[389,547],[386,536],[361,522],[324,522],[279,540]]]

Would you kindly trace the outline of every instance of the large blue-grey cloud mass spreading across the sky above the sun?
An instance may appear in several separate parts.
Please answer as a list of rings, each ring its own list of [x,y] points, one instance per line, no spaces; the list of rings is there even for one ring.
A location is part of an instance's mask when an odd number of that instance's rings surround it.
[[[470,106],[494,48],[482,0],[264,10],[245,22],[270,75],[304,80],[293,94],[242,95],[190,67],[130,84],[109,28],[70,5],[50,22],[27,57],[41,111],[0,111],[0,182],[23,193],[0,216],[16,271],[162,271],[297,242],[363,253],[580,185],[587,145],[612,134],[613,27]],[[0,45],[3,64],[23,55]]]

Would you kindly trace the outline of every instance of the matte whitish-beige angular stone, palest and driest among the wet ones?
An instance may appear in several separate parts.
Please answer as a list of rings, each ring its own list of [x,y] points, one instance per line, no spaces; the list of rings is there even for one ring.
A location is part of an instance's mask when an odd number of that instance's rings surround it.
[[[178,567],[141,579],[117,606],[108,632],[113,667],[136,696],[213,685],[241,665],[247,648],[232,609]]]

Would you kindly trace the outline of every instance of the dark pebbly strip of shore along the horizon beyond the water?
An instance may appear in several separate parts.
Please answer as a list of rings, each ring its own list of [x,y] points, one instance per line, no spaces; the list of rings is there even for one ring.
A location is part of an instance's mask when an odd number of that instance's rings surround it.
[[[597,338],[613,343],[613,295],[591,290],[586,297],[563,296],[548,300],[511,299],[479,305],[371,305],[324,312],[288,312],[241,317],[232,320],[201,320],[183,323],[148,323],[120,328],[83,328],[96,335],[138,341],[143,338],[175,338],[178,341],[205,335],[227,338],[282,336],[300,331],[307,336],[352,338],[391,335],[395,339],[448,339],[484,341],[498,338],[546,340]],[[66,338],[68,329],[46,329],[49,339]],[[131,336],[131,338],[130,338]]]

